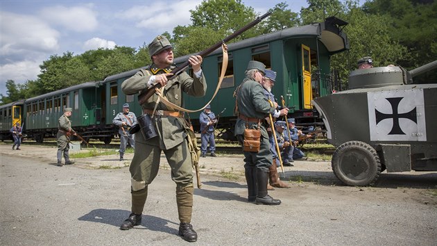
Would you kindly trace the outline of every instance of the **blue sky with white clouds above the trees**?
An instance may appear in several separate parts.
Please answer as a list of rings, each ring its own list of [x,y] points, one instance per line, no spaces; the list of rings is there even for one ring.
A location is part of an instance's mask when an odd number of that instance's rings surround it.
[[[91,49],[142,47],[156,35],[173,33],[175,26],[191,24],[189,10],[201,0],[1,0],[0,93],[6,81],[37,79],[39,65],[50,56],[74,55]],[[242,0],[264,14],[286,2],[296,13],[306,0]]]

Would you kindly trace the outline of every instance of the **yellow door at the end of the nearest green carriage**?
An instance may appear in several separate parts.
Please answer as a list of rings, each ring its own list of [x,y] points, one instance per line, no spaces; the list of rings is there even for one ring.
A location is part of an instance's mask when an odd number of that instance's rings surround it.
[[[311,109],[313,89],[311,87],[311,50],[302,44],[302,95],[305,109]]]

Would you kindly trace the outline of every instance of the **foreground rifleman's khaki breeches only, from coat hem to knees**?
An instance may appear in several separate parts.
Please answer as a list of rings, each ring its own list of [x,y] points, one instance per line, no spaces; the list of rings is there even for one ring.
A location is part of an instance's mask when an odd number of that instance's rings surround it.
[[[152,183],[160,168],[161,152],[164,151],[171,167],[171,179],[182,188],[193,186],[193,167],[187,140],[171,149],[135,142],[135,154],[130,163],[132,191],[142,190]]]

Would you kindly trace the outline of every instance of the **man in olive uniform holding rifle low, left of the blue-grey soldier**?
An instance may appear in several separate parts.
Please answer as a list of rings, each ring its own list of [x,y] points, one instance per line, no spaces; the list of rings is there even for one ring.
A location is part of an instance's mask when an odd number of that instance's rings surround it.
[[[69,149],[70,149],[70,136],[76,136],[76,131],[71,128],[71,113],[73,108],[64,108],[64,114],[58,120],[58,134],[56,135],[56,142],[58,143],[58,167],[62,167],[62,155],[65,158],[65,165],[74,164],[74,161],[70,161]]]

